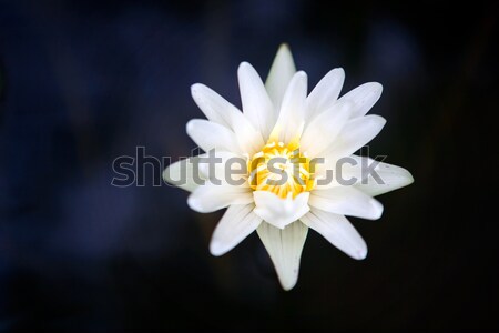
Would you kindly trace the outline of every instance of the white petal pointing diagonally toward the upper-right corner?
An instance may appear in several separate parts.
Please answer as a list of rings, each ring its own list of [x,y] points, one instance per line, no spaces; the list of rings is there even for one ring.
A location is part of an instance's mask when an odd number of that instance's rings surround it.
[[[350,101],[355,103],[356,108],[352,112],[352,118],[363,117],[376,104],[381,97],[381,84],[378,82],[368,82],[349,91],[338,101]]]

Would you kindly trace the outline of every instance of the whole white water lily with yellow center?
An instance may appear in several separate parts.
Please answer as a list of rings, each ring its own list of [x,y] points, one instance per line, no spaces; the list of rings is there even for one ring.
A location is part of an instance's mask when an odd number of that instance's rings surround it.
[[[379,183],[363,173],[373,160],[353,155],[385,125],[381,117],[366,115],[379,99],[381,84],[366,83],[338,99],[345,78],[338,68],[307,95],[307,75],[296,72],[285,44],[265,84],[247,62],[241,63],[237,74],[243,112],[210,88],[192,85],[194,101],[207,120],[191,120],[187,134],[204,151],[215,150],[222,162],[214,175],[222,182],[213,181],[213,174],[200,163],[204,183],[196,183],[194,158],[173,163],[163,173],[165,181],[176,183],[186,172],[187,179],[180,186],[192,192],[187,203],[193,210],[208,213],[227,208],[213,233],[211,253],[226,253],[256,230],[285,290],[297,282],[309,228],[349,256],[366,258],[366,243],[345,215],[379,219],[383,205],[373,196],[413,182],[407,170],[379,163],[375,169],[383,180]],[[335,170],[345,157],[358,162],[342,169],[344,179],[356,176],[355,183],[333,180],[319,184],[327,170]],[[224,173],[224,165],[233,158],[247,163],[237,185]],[[314,168],[314,158],[325,162]],[[272,159],[278,159],[275,165],[279,172],[267,163]],[[294,159],[301,160],[295,170]],[[294,172],[299,176],[293,176]],[[276,175],[287,179],[269,182],[278,180]]]

